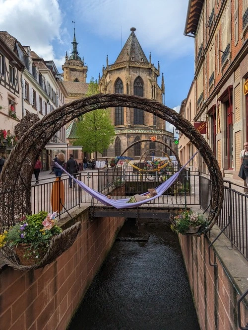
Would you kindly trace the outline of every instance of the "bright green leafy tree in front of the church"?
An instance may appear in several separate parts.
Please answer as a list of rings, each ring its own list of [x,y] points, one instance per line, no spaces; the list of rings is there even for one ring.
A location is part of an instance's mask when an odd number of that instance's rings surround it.
[[[99,93],[97,81],[91,78],[86,96]],[[84,114],[76,123],[77,141],[86,153],[103,153],[114,142],[115,129],[111,124],[110,111],[98,109]]]

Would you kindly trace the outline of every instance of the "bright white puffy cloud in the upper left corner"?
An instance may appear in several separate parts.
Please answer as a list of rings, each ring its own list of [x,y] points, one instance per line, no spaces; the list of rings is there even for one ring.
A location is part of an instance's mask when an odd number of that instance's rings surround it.
[[[62,13],[58,0],[0,0],[0,30],[45,60],[55,59],[52,41],[61,42]]]

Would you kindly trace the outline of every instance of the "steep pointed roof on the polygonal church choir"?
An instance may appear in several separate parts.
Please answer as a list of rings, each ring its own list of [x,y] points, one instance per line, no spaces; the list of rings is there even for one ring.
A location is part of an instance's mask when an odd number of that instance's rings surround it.
[[[136,31],[135,27],[131,27],[130,31],[131,34],[126,40],[126,43],[124,44],[124,47],[121,50],[121,53],[119,54],[115,63],[120,63],[127,60],[149,63],[134,33],[134,31]]]

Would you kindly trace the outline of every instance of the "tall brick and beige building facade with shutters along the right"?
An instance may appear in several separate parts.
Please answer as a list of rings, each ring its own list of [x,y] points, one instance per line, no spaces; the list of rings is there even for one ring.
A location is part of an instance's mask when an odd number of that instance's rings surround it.
[[[248,140],[248,1],[189,0],[185,35],[195,38],[194,121],[206,122],[206,140],[223,176],[243,183],[238,172]]]

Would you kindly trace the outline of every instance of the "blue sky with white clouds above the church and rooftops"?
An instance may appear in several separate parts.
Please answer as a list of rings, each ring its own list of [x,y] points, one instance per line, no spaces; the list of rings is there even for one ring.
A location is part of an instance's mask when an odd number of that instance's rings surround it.
[[[0,31],[30,46],[59,72],[72,50],[73,23],[87,82],[117,59],[131,27],[165,79],[165,104],[179,111],[194,77],[194,39],[184,36],[187,0],[0,0]]]

